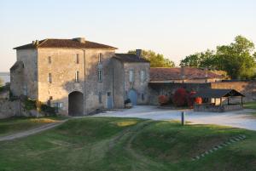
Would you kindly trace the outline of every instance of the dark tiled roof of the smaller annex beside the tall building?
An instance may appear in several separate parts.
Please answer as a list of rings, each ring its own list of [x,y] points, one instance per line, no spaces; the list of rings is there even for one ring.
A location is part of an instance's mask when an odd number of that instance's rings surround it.
[[[115,54],[115,59],[122,62],[132,63],[132,62],[149,62],[141,57],[138,57],[136,54]]]

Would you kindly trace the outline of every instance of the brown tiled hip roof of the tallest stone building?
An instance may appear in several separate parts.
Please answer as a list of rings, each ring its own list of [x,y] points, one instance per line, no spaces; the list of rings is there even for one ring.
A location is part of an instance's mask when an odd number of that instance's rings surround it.
[[[32,43],[16,47],[14,49],[26,49],[26,48],[108,48],[116,49],[112,46],[108,46],[101,43],[93,43],[90,41],[85,41],[85,43],[80,43],[75,39],[44,39],[39,41],[38,46]]]

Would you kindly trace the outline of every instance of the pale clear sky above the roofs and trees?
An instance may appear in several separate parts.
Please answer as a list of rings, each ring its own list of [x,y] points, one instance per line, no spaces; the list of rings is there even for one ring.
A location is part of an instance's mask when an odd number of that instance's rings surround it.
[[[256,43],[255,0],[0,0],[0,71],[15,63],[13,48],[36,39],[151,49],[178,65],[237,35]]]

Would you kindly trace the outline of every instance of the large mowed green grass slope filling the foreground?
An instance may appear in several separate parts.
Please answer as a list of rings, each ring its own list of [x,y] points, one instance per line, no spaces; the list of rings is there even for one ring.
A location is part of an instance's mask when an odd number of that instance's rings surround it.
[[[246,134],[247,139],[191,160],[238,134]],[[20,140],[0,142],[0,170],[253,171],[256,133],[214,125],[84,117]]]

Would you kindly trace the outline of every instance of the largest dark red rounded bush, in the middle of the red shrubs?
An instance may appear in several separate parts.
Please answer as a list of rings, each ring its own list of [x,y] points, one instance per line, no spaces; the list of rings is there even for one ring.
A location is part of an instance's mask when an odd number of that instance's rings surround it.
[[[177,88],[176,92],[173,95],[172,102],[176,106],[185,106],[187,105],[188,94],[184,88]]]

